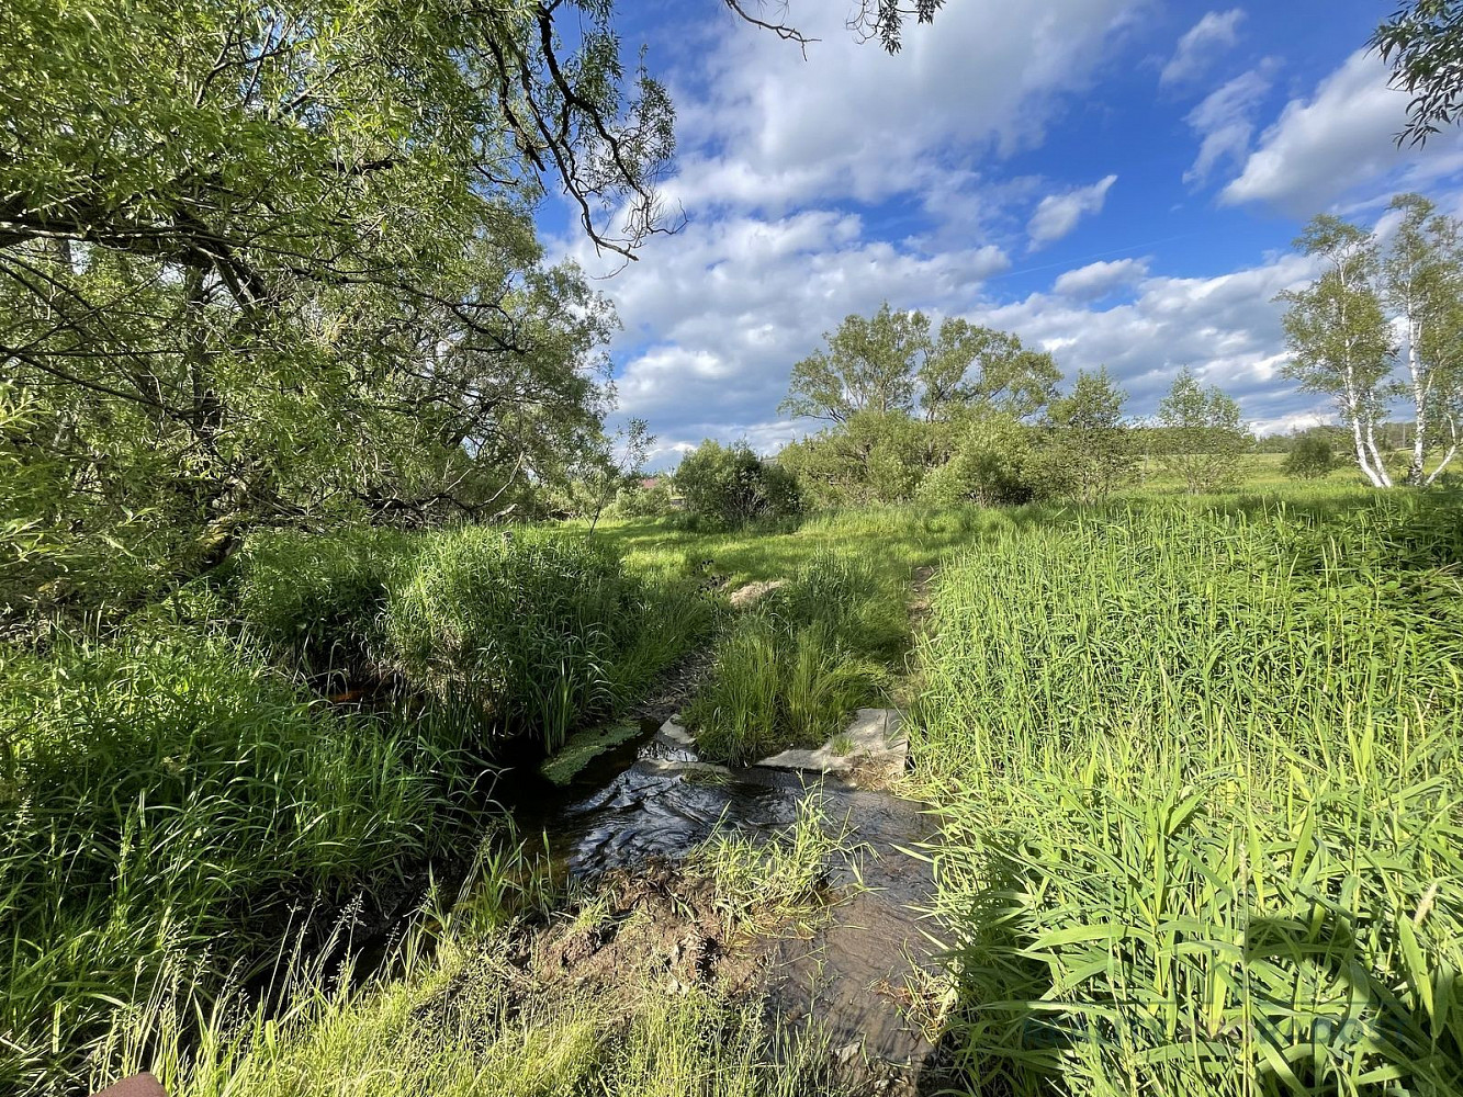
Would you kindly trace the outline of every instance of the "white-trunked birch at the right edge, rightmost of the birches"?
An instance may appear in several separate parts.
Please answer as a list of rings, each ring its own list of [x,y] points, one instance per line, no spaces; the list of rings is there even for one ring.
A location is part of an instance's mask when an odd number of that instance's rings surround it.
[[[1400,195],[1403,218],[1383,262],[1385,301],[1406,332],[1407,389],[1415,408],[1409,484],[1431,484],[1459,448],[1463,407],[1463,247],[1459,222],[1421,195]],[[1437,436],[1447,449],[1428,472]]]

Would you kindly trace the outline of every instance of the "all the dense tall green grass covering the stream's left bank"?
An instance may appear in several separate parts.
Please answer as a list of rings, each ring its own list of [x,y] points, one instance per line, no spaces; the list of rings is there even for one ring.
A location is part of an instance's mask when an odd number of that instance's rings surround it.
[[[0,649],[0,1088],[79,1088],[119,1009],[198,1011],[487,822],[481,756],[556,744],[710,606],[552,531],[250,543],[105,639]],[[369,712],[316,690],[385,680]],[[506,886],[506,885],[505,885]]]

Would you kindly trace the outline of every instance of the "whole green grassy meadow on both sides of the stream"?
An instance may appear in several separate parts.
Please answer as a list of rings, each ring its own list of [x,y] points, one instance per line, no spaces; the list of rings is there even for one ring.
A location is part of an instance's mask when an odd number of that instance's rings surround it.
[[[755,1003],[505,1012],[490,962],[584,901],[494,807],[494,753],[552,750],[705,649],[688,720],[726,761],[906,709],[955,1091],[1447,1093],[1460,563],[1456,496],[1346,477],[730,532],[260,535],[105,641],[6,655],[0,1079],[827,1090],[816,1055],[770,1066]],[[786,587],[729,610],[753,581]],[[803,878],[809,848],[778,863]],[[743,894],[749,857],[710,870]],[[392,960],[342,976],[331,929],[423,891]]]

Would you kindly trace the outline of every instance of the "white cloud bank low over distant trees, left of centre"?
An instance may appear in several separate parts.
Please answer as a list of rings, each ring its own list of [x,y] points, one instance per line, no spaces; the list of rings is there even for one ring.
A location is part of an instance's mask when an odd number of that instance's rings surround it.
[[[803,211],[696,221],[655,238],[642,263],[604,284],[625,325],[612,347],[620,414],[648,417],[664,448],[783,437],[793,427],[767,417],[822,332],[884,300],[969,307],[986,278],[1011,266],[993,244],[925,252],[862,230],[851,214]],[[597,269],[582,244],[576,257]]]

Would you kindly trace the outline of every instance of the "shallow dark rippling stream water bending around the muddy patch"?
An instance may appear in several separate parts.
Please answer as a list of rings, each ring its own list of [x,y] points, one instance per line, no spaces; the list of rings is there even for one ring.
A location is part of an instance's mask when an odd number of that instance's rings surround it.
[[[928,1059],[933,1049],[901,1002],[928,986],[910,987],[916,968],[936,965],[926,936],[933,924],[919,914],[933,892],[929,864],[904,853],[935,835],[930,816],[911,800],[818,774],[702,766],[657,727],[644,721],[638,737],[598,755],[568,787],[515,771],[509,807],[521,831],[544,834],[571,876],[590,878],[679,859],[718,829],[770,837],[796,821],[806,797],[821,797],[828,823],[847,821],[860,847],[857,875],[834,873],[844,898],[827,924],[774,942],[770,1008],[794,1027],[816,1019],[841,1056],[859,1052],[901,1066]]]

